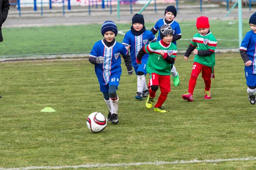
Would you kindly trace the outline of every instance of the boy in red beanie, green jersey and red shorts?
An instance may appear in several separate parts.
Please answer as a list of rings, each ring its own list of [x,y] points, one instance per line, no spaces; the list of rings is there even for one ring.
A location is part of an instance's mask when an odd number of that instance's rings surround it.
[[[182,98],[189,102],[193,101],[193,92],[196,85],[196,79],[201,71],[205,84],[204,99],[211,99],[211,78],[214,78],[214,51],[217,45],[216,38],[209,30],[210,25],[207,17],[198,17],[196,20],[196,27],[198,29],[198,33],[194,35],[189,48],[186,50],[184,55],[184,59],[188,60],[189,55],[192,52],[195,54],[192,73],[189,79],[189,93],[182,95]],[[196,47],[197,49],[195,49]]]

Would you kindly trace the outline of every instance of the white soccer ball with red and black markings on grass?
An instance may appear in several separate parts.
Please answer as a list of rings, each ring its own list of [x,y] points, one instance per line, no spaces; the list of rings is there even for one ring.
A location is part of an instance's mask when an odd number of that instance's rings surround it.
[[[93,132],[100,132],[107,126],[106,117],[99,112],[93,112],[87,117],[87,127]]]

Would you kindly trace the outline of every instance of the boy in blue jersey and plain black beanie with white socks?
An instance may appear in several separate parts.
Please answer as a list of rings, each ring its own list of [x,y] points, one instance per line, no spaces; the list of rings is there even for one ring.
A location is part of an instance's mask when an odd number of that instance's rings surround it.
[[[136,56],[141,48],[147,45],[149,42],[156,42],[156,37],[151,31],[146,30],[144,26],[144,18],[142,14],[135,14],[132,18],[131,30],[125,34],[123,45],[127,49],[130,48],[130,55],[132,66],[137,75],[137,95],[135,99],[142,100],[143,97],[148,95],[148,87],[145,79],[146,65],[148,61],[148,54],[145,54],[142,58],[142,64],[136,63]]]

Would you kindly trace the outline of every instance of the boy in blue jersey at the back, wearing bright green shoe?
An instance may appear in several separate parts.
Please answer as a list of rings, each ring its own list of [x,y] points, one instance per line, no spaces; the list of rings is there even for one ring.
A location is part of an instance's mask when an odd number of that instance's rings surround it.
[[[165,24],[169,25],[172,27],[172,31],[173,31],[173,38],[172,38],[172,43],[174,43],[177,46],[177,40],[180,40],[181,38],[181,31],[180,31],[180,25],[179,23],[177,23],[174,18],[177,15],[177,10],[175,8],[175,6],[167,6],[166,10],[164,11],[164,15],[165,18],[160,19],[157,21],[157,23],[155,24],[155,26],[151,29],[153,34],[157,34],[157,31],[159,30],[159,28]],[[160,41],[161,37],[160,37],[160,31],[158,33],[158,37],[157,37],[157,41]],[[175,86],[180,84],[180,78],[179,78],[179,74],[176,71],[176,68],[174,65],[172,65],[172,69],[171,69],[171,74],[172,74],[172,79],[173,79],[173,83]]]

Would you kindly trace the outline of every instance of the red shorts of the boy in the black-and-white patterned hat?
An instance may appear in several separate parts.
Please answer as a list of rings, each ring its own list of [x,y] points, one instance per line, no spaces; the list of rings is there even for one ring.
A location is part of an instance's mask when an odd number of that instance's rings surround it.
[[[150,87],[151,85],[158,85],[160,87],[161,92],[170,92],[171,91],[170,75],[163,76],[156,73],[149,74],[148,87]]]

